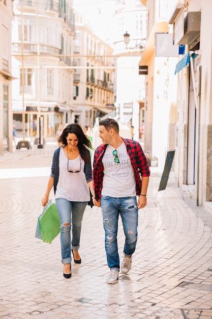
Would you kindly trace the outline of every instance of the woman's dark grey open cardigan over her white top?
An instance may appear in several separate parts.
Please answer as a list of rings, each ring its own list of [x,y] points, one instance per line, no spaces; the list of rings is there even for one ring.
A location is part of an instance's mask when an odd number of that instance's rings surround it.
[[[62,147],[58,147],[53,154],[53,158],[52,158],[52,165],[51,165],[51,174],[50,176],[54,178],[54,195],[56,193],[56,187],[57,187],[57,183],[58,183],[58,179],[59,179],[59,152],[60,149]],[[88,150],[86,150],[87,155],[90,158],[90,152]],[[87,162],[84,165],[84,173],[85,173],[85,178],[86,181],[89,182],[91,180],[93,180],[92,178],[92,165],[91,162]]]

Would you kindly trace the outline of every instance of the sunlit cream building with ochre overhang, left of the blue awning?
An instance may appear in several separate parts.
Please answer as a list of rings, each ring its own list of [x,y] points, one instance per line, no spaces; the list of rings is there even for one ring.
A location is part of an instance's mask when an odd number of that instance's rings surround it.
[[[141,1],[147,6],[146,46],[139,61],[141,68],[147,68],[144,103],[144,146],[151,157],[157,157],[160,170],[163,169],[167,150],[174,148],[176,85],[174,76],[178,52],[171,56],[165,47],[167,40],[158,41],[156,36],[169,36],[167,15],[173,8],[173,1]],[[171,46],[172,43],[171,43]],[[161,52],[160,52],[161,50]]]

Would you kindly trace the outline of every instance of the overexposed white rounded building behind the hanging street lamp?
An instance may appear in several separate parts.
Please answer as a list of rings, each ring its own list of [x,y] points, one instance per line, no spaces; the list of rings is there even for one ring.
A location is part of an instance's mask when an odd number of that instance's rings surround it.
[[[146,7],[139,0],[116,1],[113,14],[114,55],[116,69],[116,119],[134,126],[134,139],[142,138],[144,121],[145,77],[139,75],[138,63],[146,38]],[[129,35],[125,45],[124,34]]]

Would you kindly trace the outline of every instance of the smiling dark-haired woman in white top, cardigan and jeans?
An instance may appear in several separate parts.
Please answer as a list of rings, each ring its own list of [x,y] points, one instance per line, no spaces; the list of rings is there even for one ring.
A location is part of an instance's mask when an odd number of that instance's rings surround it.
[[[55,203],[61,224],[60,244],[64,277],[70,278],[71,250],[74,262],[81,263],[78,249],[82,217],[90,200],[89,188],[94,196],[89,152],[93,147],[78,124],[67,125],[58,142],[62,146],[54,151],[51,174],[41,202],[46,206],[50,191],[54,187]]]

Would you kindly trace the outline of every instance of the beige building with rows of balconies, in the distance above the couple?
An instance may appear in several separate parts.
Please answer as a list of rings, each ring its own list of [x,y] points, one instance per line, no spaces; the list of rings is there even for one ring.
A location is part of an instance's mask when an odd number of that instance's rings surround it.
[[[89,21],[75,12],[74,117],[82,127],[114,109],[113,49],[94,34]]]

